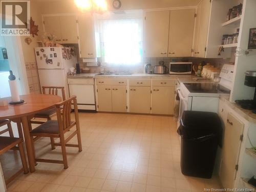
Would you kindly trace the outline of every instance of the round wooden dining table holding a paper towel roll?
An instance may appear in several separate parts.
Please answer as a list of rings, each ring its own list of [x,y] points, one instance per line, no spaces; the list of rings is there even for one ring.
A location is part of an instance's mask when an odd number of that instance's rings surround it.
[[[34,172],[35,161],[30,138],[30,119],[38,112],[54,108],[55,104],[62,99],[60,96],[48,94],[21,95],[20,99],[25,102],[17,105],[0,106],[0,120],[10,119],[17,123],[19,133],[23,130],[30,172]],[[0,98],[1,100],[10,102],[11,97]]]

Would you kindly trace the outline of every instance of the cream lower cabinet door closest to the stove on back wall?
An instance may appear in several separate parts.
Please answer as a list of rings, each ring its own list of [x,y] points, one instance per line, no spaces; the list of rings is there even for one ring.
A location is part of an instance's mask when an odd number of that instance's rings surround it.
[[[152,87],[152,114],[174,114],[175,87]]]

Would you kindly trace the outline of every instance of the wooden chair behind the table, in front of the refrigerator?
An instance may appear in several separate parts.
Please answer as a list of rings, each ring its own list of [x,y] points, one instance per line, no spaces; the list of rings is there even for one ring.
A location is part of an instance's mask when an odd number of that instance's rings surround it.
[[[50,95],[58,95],[58,90],[60,90],[62,93],[62,100],[63,101],[66,100],[64,87],[42,87],[42,94],[47,94],[46,89],[48,89],[48,94],[50,94]],[[52,117],[54,117],[55,115],[56,115],[56,109],[54,108],[54,109],[39,112],[39,113],[35,114],[34,117],[51,120]],[[30,122],[35,123],[35,124],[44,123],[44,121],[34,121],[34,120],[31,120]]]

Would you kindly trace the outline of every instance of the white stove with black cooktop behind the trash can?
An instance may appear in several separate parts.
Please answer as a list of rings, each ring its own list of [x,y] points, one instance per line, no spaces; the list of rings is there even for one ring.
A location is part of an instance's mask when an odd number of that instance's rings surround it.
[[[181,83],[179,120],[183,111],[218,113],[219,97],[229,95],[233,78],[233,65],[225,64],[221,70],[220,83]]]

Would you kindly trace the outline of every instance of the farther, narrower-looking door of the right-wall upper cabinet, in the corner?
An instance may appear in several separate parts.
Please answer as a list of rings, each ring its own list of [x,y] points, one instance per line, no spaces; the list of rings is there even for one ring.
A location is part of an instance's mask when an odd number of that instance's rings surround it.
[[[200,30],[201,6],[202,6],[202,3],[200,3],[197,6],[196,27],[195,27],[193,54],[192,54],[194,57],[197,57],[197,55],[199,54],[198,38],[199,38],[199,30]]]

